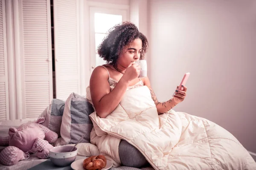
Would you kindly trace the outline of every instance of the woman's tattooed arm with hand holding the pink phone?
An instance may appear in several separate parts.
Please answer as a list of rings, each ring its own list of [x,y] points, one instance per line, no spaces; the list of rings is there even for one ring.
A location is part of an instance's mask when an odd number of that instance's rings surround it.
[[[168,112],[169,110],[174,108],[179,102],[181,102],[181,100],[179,98],[181,98],[182,96],[184,96],[184,98],[185,98],[185,96],[186,96],[185,91],[184,91],[184,93],[180,91],[180,93],[183,93],[183,94],[175,94],[172,99],[169,99],[166,102],[159,102],[158,99],[157,99],[157,96],[154,94],[154,91],[151,88],[150,81],[149,81],[148,77],[145,77],[143,79],[144,79],[144,85],[148,86],[148,88],[150,90],[151,97],[152,97],[152,99],[153,99],[153,101],[154,101],[154,103],[157,107],[158,114],[163,114],[163,113]]]

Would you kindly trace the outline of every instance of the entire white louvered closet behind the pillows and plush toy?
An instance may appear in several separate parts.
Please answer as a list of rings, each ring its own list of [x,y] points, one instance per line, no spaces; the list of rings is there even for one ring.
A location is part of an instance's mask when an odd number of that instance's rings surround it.
[[[79,0],[0,0],[0,121],[37,118],[53,97],[80,92]]]

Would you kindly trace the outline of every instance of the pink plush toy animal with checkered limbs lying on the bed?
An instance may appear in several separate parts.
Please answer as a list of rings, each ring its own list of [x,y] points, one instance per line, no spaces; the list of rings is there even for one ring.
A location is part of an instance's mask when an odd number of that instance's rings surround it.
[[[0,163],[13,165],[18,161],[28,159],[29,153],[37,152],[41,159],[49,158],[49,149],[57,140],[58,134],[40,125],[45,121],[44,117],[38,118],[35,122],[28,122],[17,127],[9,128],[9,136],[0,138],[0,145],[7,145],[0,153]],[[45,140],[44,140],[45,139]]]

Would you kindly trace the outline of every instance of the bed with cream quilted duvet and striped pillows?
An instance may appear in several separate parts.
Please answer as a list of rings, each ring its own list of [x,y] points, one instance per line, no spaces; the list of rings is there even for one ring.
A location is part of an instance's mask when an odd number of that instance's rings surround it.
[[[140,93],[143,94],[140,96]],[[145,93],[148,95],[145,96]],[[139,103],[140,107],[137,105],[136,108],[131,101]],[[136,170],[137,168],[119,166],[118,142],[125,139],[139,149],[151,164],[142,168],[144,170],[256,170],[256,163],[247,150],[231,133],[217,124],[173,110],[157,115],[148,88],[128,91],[115,110],[116,113],[106,119],[100,119],[96,115],[90,102],[89,98],[72,93],[66,101],[53,99],[39,116],[45,119],[42,125],[58,134],[53,146],[74,145],[85,135],[80,146],[77,145],[76,160],[104,153],[113,162],[112,170]],[[133,113],[134,117],[128,112]],[[36,119],[0,122],[0,136],[7,136],[11,126],[17,127],[34,120]],[[163,138],[157,137],[160,133]],[[100,136],[103,135],[106,137],[102,140]],[[104,141],[105,139],[111,140]],[[4,147],[6,146],[0,146],[0,150]],[[0,165],[0,169],[35,170],[42,162],[47,163],[49,160],[38,159],[32,154],[29,159],[15,165]],[[40,168],[50,169],[44,165]]]

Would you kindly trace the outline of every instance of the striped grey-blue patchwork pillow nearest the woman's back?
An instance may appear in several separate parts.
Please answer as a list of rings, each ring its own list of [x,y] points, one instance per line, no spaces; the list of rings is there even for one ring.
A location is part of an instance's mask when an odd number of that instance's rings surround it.
[[[83,135],[85,135],[84,139],[80,143],[90,143],[93,123],[89,115],[93,111],[92,105],[84,96],[75,93],[70,94],[65,102],[62,116],[60,145],[74,144]]]

